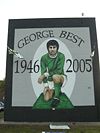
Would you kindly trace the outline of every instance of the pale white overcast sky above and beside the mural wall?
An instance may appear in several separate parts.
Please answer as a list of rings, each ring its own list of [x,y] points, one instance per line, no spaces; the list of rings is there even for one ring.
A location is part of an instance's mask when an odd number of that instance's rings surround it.
[[[100,50],[99,10],[99,0],[0,0],[0,80],[6,74],[9,19],[95,17]]]

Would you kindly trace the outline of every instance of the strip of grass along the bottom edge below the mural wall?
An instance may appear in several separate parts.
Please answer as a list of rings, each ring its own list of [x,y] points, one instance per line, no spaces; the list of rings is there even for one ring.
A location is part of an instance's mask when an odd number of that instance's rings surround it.
[[[63,133],[100,133],[99,126],[74,126],[70,130],[51,130],[47,125],[32,125],[32,124],[0,124],[0,133],[42,133],[45,132],[63,132]]]

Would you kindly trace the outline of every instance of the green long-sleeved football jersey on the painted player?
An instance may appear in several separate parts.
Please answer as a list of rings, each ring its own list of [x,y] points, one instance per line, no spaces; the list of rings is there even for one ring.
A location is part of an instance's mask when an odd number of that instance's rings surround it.
[[[43,82],[52,81],[54,74],[64,75],[64,62],[65,56],[61,52],[58,52],[55,58],[51,58],[48,53],[43,55],[40,62],[41,74],[49,73],[48,79],[45,78]]]

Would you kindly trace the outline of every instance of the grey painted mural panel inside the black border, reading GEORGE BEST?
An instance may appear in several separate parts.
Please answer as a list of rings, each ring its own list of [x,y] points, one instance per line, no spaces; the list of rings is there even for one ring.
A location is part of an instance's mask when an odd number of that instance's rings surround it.
[[[89,28],[16,29],[14,49],[12,106],[94,105]]]

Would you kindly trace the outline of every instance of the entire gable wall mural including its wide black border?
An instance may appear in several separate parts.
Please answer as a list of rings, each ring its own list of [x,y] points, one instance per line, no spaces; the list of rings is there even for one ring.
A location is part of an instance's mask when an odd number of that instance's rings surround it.
[[[6,66],[5,120],[100,121],[95,18],[9,20]]]

